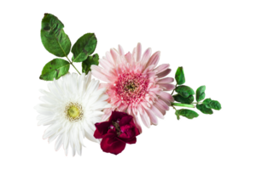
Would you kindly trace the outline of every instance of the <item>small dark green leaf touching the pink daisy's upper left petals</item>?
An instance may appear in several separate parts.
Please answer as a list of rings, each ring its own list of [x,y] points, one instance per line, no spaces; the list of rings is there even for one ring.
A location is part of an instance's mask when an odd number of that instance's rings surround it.
[[[101,54],[95,53],[90,55],[86,60],[84,60],[81,65],[80,65],[80,71],[85,72],[87,75],[90,70],[90,65],[100,65],[99,64],[99,59],[100,59]]]

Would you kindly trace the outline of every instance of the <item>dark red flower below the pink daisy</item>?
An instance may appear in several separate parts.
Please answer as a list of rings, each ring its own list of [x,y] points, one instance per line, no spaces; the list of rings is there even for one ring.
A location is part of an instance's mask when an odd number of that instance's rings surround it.
[[[104,153],[120,155],[128,145],[137,144],[140,134],[133,116],[124,112],[112,111],[108,122],[97,122],[94,137],[102,139],[99,149]]]

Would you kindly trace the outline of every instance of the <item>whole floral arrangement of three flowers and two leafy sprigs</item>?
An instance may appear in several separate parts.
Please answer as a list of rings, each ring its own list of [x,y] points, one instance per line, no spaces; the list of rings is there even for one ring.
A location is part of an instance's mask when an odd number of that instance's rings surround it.
[[[42,139],[55,142],[54,150],[65,156],[82,157],[88,148],[84,139],[119,156],[127,145],[138,144],[143,127],[160,126],[168,111],[180,122],[224,110],[219,100],[207,98],[207,85],[186,84],[183,66],[168,77],[171,64],[159,65],[161,51],[143,50],[142,42],[126,53],[118,43],[101,56],[95,32],[73,42],[64,22],[49,13],[41,18],[39,31],[41,46],[55,58],[39,71],[38,80],[47,89],[38,88],[42,95],[32,109],[37,126],[46,127]]]

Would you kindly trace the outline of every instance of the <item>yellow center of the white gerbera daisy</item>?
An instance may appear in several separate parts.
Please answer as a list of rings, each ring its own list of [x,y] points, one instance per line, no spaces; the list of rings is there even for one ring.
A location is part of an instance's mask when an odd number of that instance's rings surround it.
[[[82,107],[78,103],[70,103],[66,106],[66,117],[69,121],[77,121],[83,115]]]

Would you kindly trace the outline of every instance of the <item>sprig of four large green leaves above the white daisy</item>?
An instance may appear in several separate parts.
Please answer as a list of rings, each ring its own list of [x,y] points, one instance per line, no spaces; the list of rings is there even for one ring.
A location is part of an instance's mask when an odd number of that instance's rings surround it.
[[[81,63],[81,73],[90,71],[90,65],[99,65],[96,54],[99,40],[94,32],[86,32],[75,42],[67,28],[55,14],[44,14],[39,23],[39,41],[44,50],[55,58],[42,65],[38,80],[51,82],[67,74],[76,63]],[[69,55],[71,54],[71,57]]]

